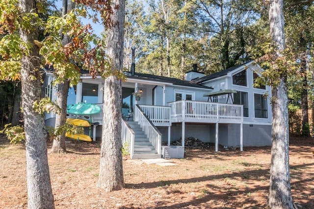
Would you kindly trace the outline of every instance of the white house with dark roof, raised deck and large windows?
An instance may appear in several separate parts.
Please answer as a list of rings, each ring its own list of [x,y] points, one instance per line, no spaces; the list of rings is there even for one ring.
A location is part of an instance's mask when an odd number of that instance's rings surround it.
[[[156,75],[125,72],[122,84],[123,107],[128,109],[122,120],[123,140],[129,141],[131,157],[149,143],[140,142],[144,134],[160,156],[162,142],[193,136],[203,142],[223,146],[266,146],[271,144],[271,96],[269,86],[253,86],[262,69],[254,61],[205,76],[196,66],[186,73],[186,80]],[[46,95],[54,99],[52,75],[45,78]],[[93,103],[102,106],[102,78],[82,74],[81,82],[69,89],[68,105]],[[136,101],[133,92],[142,92]],[[268,95],[265,97],[265,95]],[[46,119],[53,121],[47,114]],[[129,121],[128,121],[129,119]],[[93,115],[93,122],[102,125],[102,113]],[[132,121],[135,121],[134,125]],[[97,127],[100,136],[102,129]],[[139,141],[138,141],[139,140]],[[145,147],[146,146],[146,147]],[[184,146],[184,144],[183,144]]]

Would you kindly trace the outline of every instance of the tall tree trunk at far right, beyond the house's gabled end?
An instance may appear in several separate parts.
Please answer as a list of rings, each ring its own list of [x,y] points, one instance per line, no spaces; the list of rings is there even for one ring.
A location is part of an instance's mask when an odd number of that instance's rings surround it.
[[[283,0],[269,0],[269,25],[277,56],[286,48]],[[271,209],[292,209],[289,174],[288,92],[286,74],[280,75],[278,86],[272,86],[272,146],[270,182],[267,204]]]

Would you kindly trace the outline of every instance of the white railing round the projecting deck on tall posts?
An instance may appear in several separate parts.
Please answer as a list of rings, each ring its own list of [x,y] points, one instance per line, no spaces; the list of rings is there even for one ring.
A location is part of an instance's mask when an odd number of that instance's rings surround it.
[[[171,122],[243,121],[243,105],[181,100],[169,103]]]

